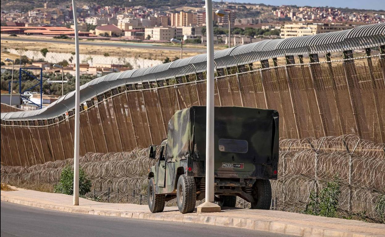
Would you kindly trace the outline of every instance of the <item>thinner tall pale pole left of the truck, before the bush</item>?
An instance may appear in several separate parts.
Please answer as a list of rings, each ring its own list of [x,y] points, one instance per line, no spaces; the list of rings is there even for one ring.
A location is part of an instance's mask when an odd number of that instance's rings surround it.
[[[79,205],[79,129],[80,129],[80,72],[79,72],[79,34],[75,0],[72,0],[75,29],[76,83],[75,83],[75,144],[74,144],[74,205]]]

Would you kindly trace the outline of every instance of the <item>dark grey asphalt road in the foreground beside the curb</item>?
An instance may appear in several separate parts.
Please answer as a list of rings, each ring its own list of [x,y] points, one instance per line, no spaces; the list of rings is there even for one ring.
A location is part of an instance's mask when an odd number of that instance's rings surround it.
[[[254,230],[181,222],[72,214],[9,202],[0,205],[2,237],[15,236],[255,236],[289,237]]]

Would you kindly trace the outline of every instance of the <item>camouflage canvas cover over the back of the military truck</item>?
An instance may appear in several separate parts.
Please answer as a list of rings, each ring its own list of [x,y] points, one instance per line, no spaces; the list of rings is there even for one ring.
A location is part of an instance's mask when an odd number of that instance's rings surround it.
[[[214,107],[214,156],[216,159],[278,162],[278,112],[237,106]],[[236,141],[234,144],[233,141]],[[239,143],[238,143],[239,141]],[[234,150],[236,149],[236,150]],[[235,151],[235,152],[234,152]],[[206,106],[177,111],[169,121],[166,162],[191,156],[206,157]]]

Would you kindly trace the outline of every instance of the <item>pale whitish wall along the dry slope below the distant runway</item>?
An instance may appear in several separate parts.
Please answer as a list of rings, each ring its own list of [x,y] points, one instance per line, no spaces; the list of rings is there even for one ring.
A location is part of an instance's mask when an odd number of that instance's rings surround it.
[[[18,55],[18,51],[13,48],[8,48],[8,52]],[[23,52],[23,55],[27,56],[31,59],[39,59],[44,58],[49,63],[59,63],[63,60],[69,60],[69,58],[73,58],[72,62],[75,62],[75,55],[72,55],[71,53],[54,53],[54,52],[48,52],[45,57],[40,53],[40,51],[33,51],[28,50]],[[87,55],[87,54],[80,54],[80,63],[89,63],[90,66],[93,66],[93,63],[115,63],[115,64],[126,64],[130,63],[134,69],[137,68],[147,68],[149,66],[156,66],[158,64],[161,64],[161,60],[152,60],[152,59],[144,59],[144,58],[133,58],[133,57],[115,57],[115,56],[108,56],[105,57],[103,55]],[[70,61],[68,61],[70,63]]]

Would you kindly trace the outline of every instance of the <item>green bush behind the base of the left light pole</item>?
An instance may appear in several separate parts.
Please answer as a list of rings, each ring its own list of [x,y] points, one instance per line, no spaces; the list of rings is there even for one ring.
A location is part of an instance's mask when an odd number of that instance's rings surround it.
[[[79,168],[79,193],[86,194],[91,189],[91,181],[84,170]],[[74,194],[74,169],[72,166],[65,166],[60,174],[60,181],[55,185],[54,192],[72,195]]]

